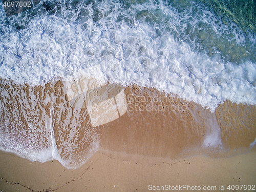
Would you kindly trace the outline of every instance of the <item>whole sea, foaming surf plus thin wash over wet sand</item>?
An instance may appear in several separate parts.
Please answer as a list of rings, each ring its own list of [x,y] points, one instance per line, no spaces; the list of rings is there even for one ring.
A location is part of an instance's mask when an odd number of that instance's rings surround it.
[[[69,168],[100,147],[164,157],[250,150],[254,4],[204,3],[40,1],[7,17],[0,6],[1,149]]]

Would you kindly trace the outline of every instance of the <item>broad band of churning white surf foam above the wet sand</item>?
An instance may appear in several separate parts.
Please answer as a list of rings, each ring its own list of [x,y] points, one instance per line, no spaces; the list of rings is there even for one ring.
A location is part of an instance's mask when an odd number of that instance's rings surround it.
[[[36,85],[100,64],[91,76],[155,87],[212,111],[226,99],[256,104],[255,35],[223,24],[203,5],[182,12],[151,1],[128,9],[111,1],[97,10],[58,6],[51,15],[12,16],[9,28],[1,22],[1,78]]]

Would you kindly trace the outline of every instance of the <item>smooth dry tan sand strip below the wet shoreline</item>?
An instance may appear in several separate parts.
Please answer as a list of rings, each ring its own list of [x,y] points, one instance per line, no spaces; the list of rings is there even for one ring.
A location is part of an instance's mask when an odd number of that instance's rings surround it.
[[[228,185],[256,184],[255,159],[256,152],[229,158],[173,160],[98,151],[74,170],[58,161],[30,162],[1,152],[0,186],[2,191],[150,191],[149,185],[188,185],[217,187],[197,191],[221,191],[219,187],[224,185],[222,191],[234,191],[228,190]]]

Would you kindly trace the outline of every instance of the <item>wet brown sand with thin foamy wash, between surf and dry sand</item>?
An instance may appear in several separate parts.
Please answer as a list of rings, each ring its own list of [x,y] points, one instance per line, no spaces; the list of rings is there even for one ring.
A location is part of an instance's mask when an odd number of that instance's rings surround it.
[[[0,85],[0,148],[30,161],[56,159],[77,168],[99,149],[164,158],[227,157],[255,145],[255,106],[229,101],[210,112],[154,88],[95,79]]]

